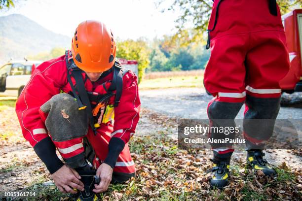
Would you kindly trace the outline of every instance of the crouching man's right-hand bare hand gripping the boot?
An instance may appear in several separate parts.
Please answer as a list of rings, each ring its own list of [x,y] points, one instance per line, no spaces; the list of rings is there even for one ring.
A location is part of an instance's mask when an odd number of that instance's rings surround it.
[[[113,172],[112,167],[110,167],[105,163],[103,163],[97,169],[96,175],[100,177],[101,182],[99,185],[94,184],[95,189],[92,190],[94,193],[101,193],[108,189],[108,186],[112,179],[112,172]]]

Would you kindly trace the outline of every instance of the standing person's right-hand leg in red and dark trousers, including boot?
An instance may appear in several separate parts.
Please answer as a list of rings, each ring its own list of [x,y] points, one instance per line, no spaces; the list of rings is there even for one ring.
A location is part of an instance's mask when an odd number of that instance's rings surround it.
[[[279,81],[289,70],[289,56],[282,32],[251,33],[251,44],[246,57],[247,96],[243,121],[247,162],[269,175],[275,171],[267,166],[262,150],[273,134],[280,109]]]

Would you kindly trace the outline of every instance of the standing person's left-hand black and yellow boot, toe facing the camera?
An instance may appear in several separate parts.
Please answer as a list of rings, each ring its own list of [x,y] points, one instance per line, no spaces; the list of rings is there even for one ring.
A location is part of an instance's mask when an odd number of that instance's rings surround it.
[[[229,162],[213,161],[213,177],[210,180],[211,188],[223,189],[228,185]]]

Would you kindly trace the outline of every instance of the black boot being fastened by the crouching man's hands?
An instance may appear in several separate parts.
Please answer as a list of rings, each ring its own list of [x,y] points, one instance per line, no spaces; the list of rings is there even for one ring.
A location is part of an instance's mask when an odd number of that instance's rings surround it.
[[[74,201],[99,201],[98,196],[92,191],[94,189],[94,184],[98,183],[96,181],[96,170],[94,169],[76,169],[78,174],[81,176],[81,182],[84,184],[84,191],[77,191],[72,197]]]

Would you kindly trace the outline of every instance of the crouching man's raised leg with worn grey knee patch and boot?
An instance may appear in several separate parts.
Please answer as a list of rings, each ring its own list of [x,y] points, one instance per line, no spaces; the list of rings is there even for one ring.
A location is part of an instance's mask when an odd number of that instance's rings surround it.
[[[58,94],[40,107],[40,116],[66,165],[76,169],[84,184],[84,191],[74,195],[76,200],[95,200],[92,192],[95,169],[86,161],[83,137],[88,132],[84,110],[78,110],[76,100],[68,94]]]

